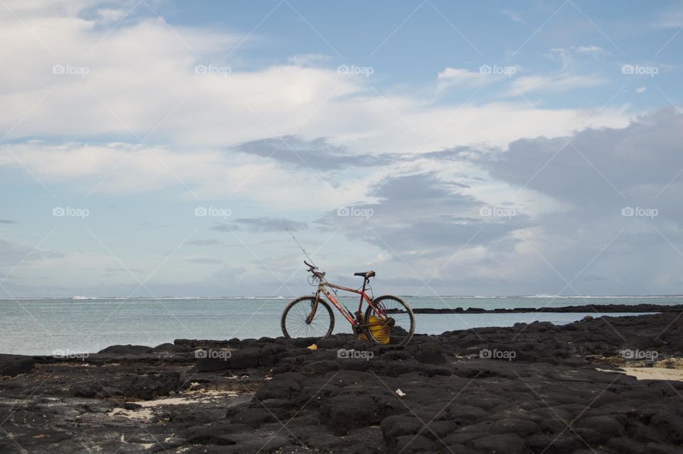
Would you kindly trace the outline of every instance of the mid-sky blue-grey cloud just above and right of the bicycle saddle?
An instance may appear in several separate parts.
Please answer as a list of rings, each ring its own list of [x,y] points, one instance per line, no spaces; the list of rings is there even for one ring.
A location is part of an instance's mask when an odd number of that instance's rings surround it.
[[[453,178],[455,175],[451,175]],[[465,193],[467,185],[459,178],[443,180],[434,172],[395,175],[378,183],[374,194],[380,201],[355,205],[362,216],[337,211],[318,220],[327,229],[341,228],[354,239],[374,244],[399,260],[401,257],[440,256],[445,249],[462,247],[481,227],[472,244],[500,238],[518,225],[519,219],[481,217],[487,204]]]

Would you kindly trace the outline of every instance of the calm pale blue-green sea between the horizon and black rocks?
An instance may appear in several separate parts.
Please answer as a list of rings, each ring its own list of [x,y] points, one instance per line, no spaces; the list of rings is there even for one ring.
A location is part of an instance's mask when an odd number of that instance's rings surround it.
[[[586,307],[585,313],[416,314],[415,333],[440,334],[485,326],[512,326],[535,320],[566,324],[603,315],[603,304],[676,305],[683,296],[403,296],[412,308]],[[0,353],[53,355],[97,352],[116,344],[154,347],[175,339],[277,337],[290,297],[226,298],[40,298],[0,300]],[[357,298],[341,298],[351,310]],[[335,333],[351,333],[335,310]],[[609,313],[605,315],[635,315]]]

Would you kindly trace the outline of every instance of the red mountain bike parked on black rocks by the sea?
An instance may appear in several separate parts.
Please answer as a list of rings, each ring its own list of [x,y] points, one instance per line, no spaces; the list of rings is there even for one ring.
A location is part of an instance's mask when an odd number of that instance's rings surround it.
[[[285,308],[282,313],[281,326],[282,334],[287,339],[292,337],[327,339],[332,334],[334,314],[329,304],[320,298],[322,293],[351,323],[356,337],[362,339],[365,335],[366,339],[385,345],[406,345],[410,342],[415,332],[413,310],[398,296],[383,295],[377,298],[368,296],[366,288],[370,287],[372,290],[369,282],[375,276],[374,271],[354,273],[354,276],[363,278],[362,288],[354,289],[330,283],[325,279],[324,271],[319,271],[317,266],[307,261],[304,261],[304,264],[308,266],[308,271],[312,274],[309,276],[309,283],[312,286],[317,285],[318,288],[314,296],[296,298]],[[332,288],[333,291],[341,290],[360,295],[358,310],[352,313],[351,310],[342,307],[328,288]],[[334,293],[337,294],[336,291]],[[363,301],[368,304],[365,314],[362,312]],[[321,306],[322,310],[319,310]]]

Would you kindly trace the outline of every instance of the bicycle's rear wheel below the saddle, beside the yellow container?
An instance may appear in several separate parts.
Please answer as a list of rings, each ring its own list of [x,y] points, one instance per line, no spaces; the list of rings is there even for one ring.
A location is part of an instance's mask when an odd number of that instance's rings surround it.
[[[373,309],[374,306],[376,310]],[[398,296],[378,296],[365,310],[366,335],[378,344],[406,345],[415,333],[411,306]]]

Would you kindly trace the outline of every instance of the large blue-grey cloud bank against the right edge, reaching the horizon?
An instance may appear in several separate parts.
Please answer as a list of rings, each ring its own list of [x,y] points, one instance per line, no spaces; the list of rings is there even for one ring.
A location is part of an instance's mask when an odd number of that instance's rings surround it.
[[[524,198],[556,200],[554,209],[536,215],[516,235],[566,279],[588,267],[574,283],[581,293],[677,293],[658,276],[680,261],[669,242],[679,249],[683,243],[677,200],[683,190],[682,126],[683,115],[665,108],[625,128],[580,131],[573,146],[566,146],[569,138],[516,141],[492,160],[486,155],[482,166],[512,185],[512,194],[524,187]],[[624,216],[625,207],[657,215]],[[529,249],[526,242],[517,247]],[[541,272],[539,285],[556,274],[549,267]]]

